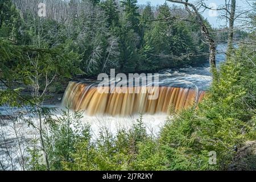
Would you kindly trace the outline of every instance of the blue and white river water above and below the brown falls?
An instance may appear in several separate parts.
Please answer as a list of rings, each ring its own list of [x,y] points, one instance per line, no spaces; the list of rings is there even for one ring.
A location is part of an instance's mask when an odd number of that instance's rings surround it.
[[[222,52],[226,51],[226,45],[219,45],[217,47],[217,51],[218,53],[216,55],[216,63],[217,67],[219,67],[220,64],[224,63],[225,61],[225,53]],[[91,82],[91,80],[88,81]],[[86,80],[82,80],[82,82],[86,82]],[[166,69],[159,72],[160,86],[207,90],[211,82],[212,75],[210,73],[209,63],[205,63],[197,67],[185,66],[183,68]],[[65,109],[63,105],[59,105],[58,107],[59,111],[60,109]],[[22,156],[22,151],[25,150],[27,141],[37,135],[31,127],[22,121],[22,119],[15,123],[12,121],[12,119],[5,119],[18,113],[26,113],[26,109],[18,109],[10,106],[0,107],[0,114],[3,118],[1,119],[0,123],[0,162],[5,167],[7,166],[6,169],[12,169],[12,167],[10,167],[12,165],[13,169],[20,169],[19,159],[20,156]],[[57,112],[56,115],[59,115],[59,113]],[[110,132],[115,133],[119,128],[129,129],[137,118],[139,118],[138,113],[126,115],[102,113],[89,115],[85,111],[82,122],[89,123],[92,129],[93,137],[97,138],[98,133],[103,127],[107,128]],[[143,122],[146,125],[148,133],[159,133],[160,128],[164,125],[167,119],[169,119],[167,114],[163,112],[145,112],[143,114]],[[15,131],[14,128],[16,128],[18,131],[21,147],[17,144],[17,131]],[[8,162],[7,159],[10,158],[14,159],[15,164]]]

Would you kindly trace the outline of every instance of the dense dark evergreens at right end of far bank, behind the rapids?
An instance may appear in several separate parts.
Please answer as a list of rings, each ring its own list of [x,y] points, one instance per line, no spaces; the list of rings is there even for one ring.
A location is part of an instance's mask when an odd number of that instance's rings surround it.
[[[150,8],[145,8],[148,18]],[[161,12],[156,18],[171,17],[170,7],[165,3],[159,6]],[[143,59],[139,63],[139,69],[144,71],[156,71],[159,67],[176,67],[184,64],[198,64],[204,60],[204,56],[199,55],[204,52],[204,46],[201,45],[200,29],[190,22],[176,20],[159,20],[148,23],[150,26],[144,31],[143,46],[141,52]]]

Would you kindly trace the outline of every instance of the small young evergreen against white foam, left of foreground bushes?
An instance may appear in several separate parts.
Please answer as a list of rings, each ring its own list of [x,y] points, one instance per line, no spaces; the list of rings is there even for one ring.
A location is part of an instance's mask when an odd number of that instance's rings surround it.
[[[52,169],[62,169],[63,162],[71,162],[75,143],[90,137],[88,126],[81,125],[81,118],[81,113],[63,111],[57,122],[49,125],[50,135],[46,143],[51,148],[48,154]]]

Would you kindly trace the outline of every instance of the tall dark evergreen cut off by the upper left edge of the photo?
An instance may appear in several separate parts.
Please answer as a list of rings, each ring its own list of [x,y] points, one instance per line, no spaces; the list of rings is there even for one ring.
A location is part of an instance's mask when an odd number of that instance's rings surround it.
[[[11,0],[0,1],[0,78],[9,80],[17,74],[14,69],[21,61],[20,16]]]

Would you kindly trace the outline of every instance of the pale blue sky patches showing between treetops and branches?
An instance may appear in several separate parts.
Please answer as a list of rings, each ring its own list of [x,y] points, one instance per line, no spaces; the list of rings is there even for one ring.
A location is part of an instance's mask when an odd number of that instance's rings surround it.
[[[155,5],[163,5],[163,3],[166,2],[166,1],[165,0],[138,0],[138,4],[141,4],[141,5],[146,4],[147,2],[150,2],[151,5],[155,6]],[[167,2],[167,3],[170,4],[170,5],[173,4],[171,2]],[[209,6],[209,5],[220,6],[224,3],[224,0],[205,0],[205,3],[206,3],[207,6]],[[237,6],[241,7],[242,9],[245,9],[245,10],[248,10],[250,8],[250,6],[247,5],[245,0],[237,0]],[[214,12],[214,11],[206,10],[204,12],[203,16],[205,18],[207,18],[209,23],[212,24],[212,26],[215,27],[215,28],[218,28],[221,25],[223,26],[225,24],[224,20],[218,19],[217,11]]]

